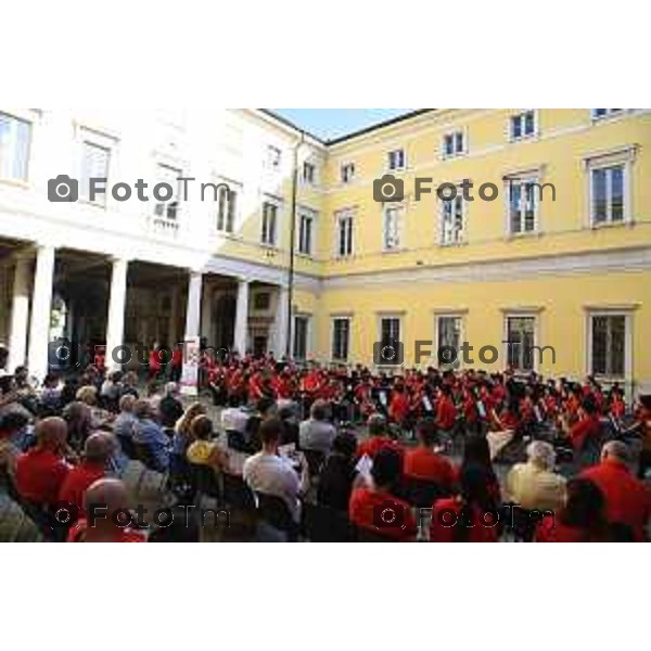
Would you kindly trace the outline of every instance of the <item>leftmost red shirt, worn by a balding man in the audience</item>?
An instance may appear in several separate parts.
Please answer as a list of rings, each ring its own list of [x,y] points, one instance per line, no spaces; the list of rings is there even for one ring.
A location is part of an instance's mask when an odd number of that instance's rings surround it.
[[[24,499],[53,505],[68,472],[69,467],[59,455],[31,448],[16,460],[16,489]]]

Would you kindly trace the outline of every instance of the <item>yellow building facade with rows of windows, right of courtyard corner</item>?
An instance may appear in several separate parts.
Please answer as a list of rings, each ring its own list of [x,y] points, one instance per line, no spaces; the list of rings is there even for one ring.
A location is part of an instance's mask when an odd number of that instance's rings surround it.
[[[294,294],[311,357],[384,366],[373,344],[396,339],[426,367],[468,342],[461,366],[651,388],[650,112],[423,111],[326,150],[296,264],[319,291]],[[385,174],[400,201],[374,199]]]

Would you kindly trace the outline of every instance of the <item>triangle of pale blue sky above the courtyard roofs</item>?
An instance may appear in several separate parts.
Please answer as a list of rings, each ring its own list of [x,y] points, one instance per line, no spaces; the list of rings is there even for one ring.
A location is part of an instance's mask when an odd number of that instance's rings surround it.
[[[297,127],[331,140],[391,119],[412,108],[271,108]]]

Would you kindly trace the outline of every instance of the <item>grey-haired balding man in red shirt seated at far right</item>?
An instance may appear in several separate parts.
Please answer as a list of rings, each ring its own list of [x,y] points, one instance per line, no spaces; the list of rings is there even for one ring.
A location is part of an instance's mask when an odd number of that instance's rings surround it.
[[[611,441],[601,451],[601,462],[584,470],[583,478],[601,489],[605,499],[605,516],[611,524],[630,528],[636,540],[647,540],[651,518],[651,492],[630,469],[630,451],[625,443]]]

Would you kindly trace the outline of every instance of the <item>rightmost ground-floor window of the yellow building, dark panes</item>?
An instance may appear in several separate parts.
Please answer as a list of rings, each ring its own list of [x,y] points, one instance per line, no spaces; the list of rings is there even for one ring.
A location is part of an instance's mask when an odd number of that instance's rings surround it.
[[[590,315],[592,375],[626,375],[626,315]]]

